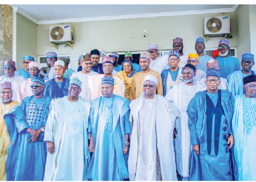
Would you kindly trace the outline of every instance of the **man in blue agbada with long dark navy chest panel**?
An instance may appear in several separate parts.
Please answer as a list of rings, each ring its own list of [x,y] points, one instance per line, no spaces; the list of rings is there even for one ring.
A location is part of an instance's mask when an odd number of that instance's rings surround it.
[[[233,180],[230,149],[234,144],[231,126],[234,99],[227,90],[218,90],[220,76],[219,70],[208,70],[207,90],[196,93],[187,107],[194,147],[190,158],[190,181]]]

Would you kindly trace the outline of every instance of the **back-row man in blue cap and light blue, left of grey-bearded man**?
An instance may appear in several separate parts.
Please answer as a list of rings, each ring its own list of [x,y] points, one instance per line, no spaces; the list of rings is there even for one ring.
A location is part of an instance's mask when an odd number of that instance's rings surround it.
[[[198,37],[196,39],[196,45],[195,45],[195,50],[198,55],[198,65],[196,66],[197,69],[202,70],[207,73],[207,67],[206,63],[212,59],[211,56],[208,56],[204,54],[204,49],[205,49],[205,44],[204,44],[204,38],[203,37]]]

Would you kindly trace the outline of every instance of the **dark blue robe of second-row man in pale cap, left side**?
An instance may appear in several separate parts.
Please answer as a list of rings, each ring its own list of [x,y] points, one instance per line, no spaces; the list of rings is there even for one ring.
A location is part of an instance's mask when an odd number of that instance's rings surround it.
[[[51,97],[52,99],[56,97],[64,97],[68,95],[69,79],[63,78],[61,88],[55,81],[55,78],[47,81],[44,86],[44,95]]]

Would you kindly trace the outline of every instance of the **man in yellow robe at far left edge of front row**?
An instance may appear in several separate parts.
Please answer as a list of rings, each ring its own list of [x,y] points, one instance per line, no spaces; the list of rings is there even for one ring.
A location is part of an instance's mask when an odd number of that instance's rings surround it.
[[[12,84],[5,81],[0,84],[0,180],[6,181],[5,169],[8,147],[11,144],[11,140],[8,134],[7,127],[5,126],[3,116],[8,113],[14,106],[18,106],[19,103],[12,101]]]

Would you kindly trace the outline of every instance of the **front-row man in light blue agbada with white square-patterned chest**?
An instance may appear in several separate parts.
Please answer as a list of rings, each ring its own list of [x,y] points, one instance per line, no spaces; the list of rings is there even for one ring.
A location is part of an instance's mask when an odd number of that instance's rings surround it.
[[[88,133],[89,150],[93,152],[87,179],[120,181],[129,179],[127,170],[129,134],[129,100],[113,94],[114,78],[103,77],[103,96],[91,103]]]

